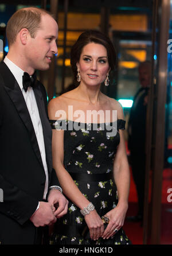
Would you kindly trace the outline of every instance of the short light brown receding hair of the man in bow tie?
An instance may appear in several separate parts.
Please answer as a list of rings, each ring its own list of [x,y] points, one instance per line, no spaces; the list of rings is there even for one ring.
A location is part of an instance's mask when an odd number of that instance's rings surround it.
[[[17,38],[17,34],[23,28],[28,29],[30,36],[34,38],[38,29],[41,28],[41,15],[49,14],[48,11],[37,7],[19,9],[11,16],[6,26],[6,37],[9,46]]]

